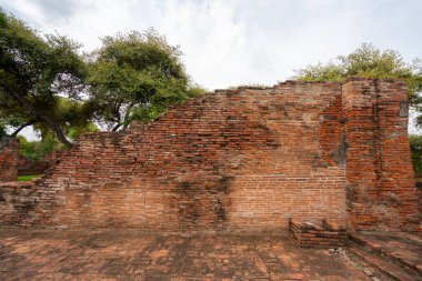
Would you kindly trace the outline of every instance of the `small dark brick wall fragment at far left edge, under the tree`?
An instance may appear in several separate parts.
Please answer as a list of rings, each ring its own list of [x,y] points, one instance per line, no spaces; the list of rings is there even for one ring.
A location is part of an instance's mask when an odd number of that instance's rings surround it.
[[[14,138],[0,139],[0,182],[18,179],[19,140]]]

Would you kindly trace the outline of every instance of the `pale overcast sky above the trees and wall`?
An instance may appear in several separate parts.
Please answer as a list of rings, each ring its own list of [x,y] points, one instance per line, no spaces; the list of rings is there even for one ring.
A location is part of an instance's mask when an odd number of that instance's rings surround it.
[[[421,0],[0,0],[41,32],[90,51],[100,38],[153,27],[181,47],[209,90],[274,84],[363,42],[422,58]]]

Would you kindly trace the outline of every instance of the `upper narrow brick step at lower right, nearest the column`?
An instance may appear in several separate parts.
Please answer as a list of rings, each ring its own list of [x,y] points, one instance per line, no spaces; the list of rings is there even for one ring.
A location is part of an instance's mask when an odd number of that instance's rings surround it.
[[[412,263],[410,260],[400,257],[395,252],[384,250],[381,245],[365,240],[363,237],[359,235],[359,233],[350,232],[349,238],[354,243],[361,245],[362,248],[366,249],[373,254],[392,261],[393,263],[403,268],[404,270],[411,271],[412,273],[416,274],[420,278],[420,280],[422,280],[422,268],[420,267],[420,264]]]

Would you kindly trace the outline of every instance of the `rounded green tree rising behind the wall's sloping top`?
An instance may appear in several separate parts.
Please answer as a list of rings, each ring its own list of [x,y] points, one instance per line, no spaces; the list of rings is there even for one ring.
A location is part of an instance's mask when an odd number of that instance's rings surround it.
[[[203,92],[191,86],[178,47],[153,29],[102,39],[90,57],[89,83],[97,118],[112,131],[151,120],[171,104]]]

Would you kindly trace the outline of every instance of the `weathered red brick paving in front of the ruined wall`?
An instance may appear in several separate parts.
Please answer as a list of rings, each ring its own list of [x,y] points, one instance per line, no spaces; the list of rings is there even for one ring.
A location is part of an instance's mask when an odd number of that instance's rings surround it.
[[[372,280],[285,234],[0,230],[0,280]]]

